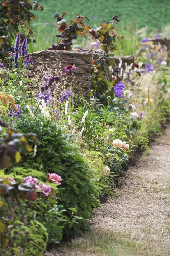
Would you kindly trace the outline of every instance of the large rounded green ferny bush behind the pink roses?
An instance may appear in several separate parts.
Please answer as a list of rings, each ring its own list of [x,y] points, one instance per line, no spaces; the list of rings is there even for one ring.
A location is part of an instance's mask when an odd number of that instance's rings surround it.
[[[93,183],[95,174],[85,162],[79,149],[70,143],[68,136],[62,130],[44,117],[31,118],[23,116],[16,125],[20,131],[27,131],[30,128],[37,132],[39,145],[37,155],[23,156],[19,166],[32,166],[41,169],[44,173],[54,172],[62,177],[62,190],[58,192],[58,201],[66,209],[67,214],[72,214],[68,208],[77,209],[78,216],[84,218],[79,220],[79,225],[73,225],[70,230],[64,230],[70,234],[72,230],[80,233],[82,229],[88,229],[86,219],[91,219],[92,207],[99,205],[99,186]]]

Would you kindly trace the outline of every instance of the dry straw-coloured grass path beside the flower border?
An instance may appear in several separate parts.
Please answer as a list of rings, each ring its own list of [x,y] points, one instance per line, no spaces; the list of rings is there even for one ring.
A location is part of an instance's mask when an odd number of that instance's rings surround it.
[[[90,233],[47,256],[170,255],[170,126],[95,210]]]

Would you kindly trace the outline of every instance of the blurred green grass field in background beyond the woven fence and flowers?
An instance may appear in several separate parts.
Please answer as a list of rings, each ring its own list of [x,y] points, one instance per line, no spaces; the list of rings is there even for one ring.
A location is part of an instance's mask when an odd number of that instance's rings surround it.
[[[37,19],[32,23],[34,37],[37,41],[37,50],[47,49],[47,45],[57,43],[55,36],[58,29],[53,22],[53,16],[66,11],[65,19],[69,23],[76,19],[77,14],[87,15],[91,28],[96,28],[101,22],[110,22],[114,15],[118,15],[121,22],[115,25],[115,32],[119,33],[122,25],[124,30],[132,27],[143,28],[148,26],[147,31],[154,35],[157,30],[170,24],[170,0],[38,0],[39,6],[44,6],[43,12],[39,9],[34,13]],[[46,26],[46,23],[49,23]],[[136,26],[137,24],[137,26]],[[120,34],[120,33],[119,33]],[[169,37],[167,35],[167,37]],[[41,45],[41,46],[40,46]],[[36,45],[32,51],[36,50]]]

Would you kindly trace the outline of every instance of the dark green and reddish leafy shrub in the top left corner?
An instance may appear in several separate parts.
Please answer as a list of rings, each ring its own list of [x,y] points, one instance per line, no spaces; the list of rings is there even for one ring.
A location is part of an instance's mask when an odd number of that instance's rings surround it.
[[[30,0],[0,0],[0,58],[5,57],[8,48],[13,51],[13,36],[17,32],[21,33],[22,39],[27,37],[28,43],[31,42],[30,36],[33,32],[29,25],[31,20],[36,19],[31,12],[32,5]],[[38,6],[34,6],[37,9]]]

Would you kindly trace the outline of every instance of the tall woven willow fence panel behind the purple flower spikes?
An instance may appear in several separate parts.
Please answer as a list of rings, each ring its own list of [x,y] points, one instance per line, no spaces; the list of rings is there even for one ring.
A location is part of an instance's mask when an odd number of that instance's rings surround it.
[[[33,76],[38,66],[47,65],[54,73],[58,68],[58,60],[61,61],[62,67],[74,65],[77,69],[72,72],[72,86],[74,93],[77,95],[83,94],[85,98],[89,98],[90,93],[90,78],[92,68],[92,51],[57,51],[57,50],[42,50],[30,54],[33,59],[33,68],[29,71],[29,75]],[[67,76],[71,80],[70,75]],[[71,82],[71,81],[70,81]]]

